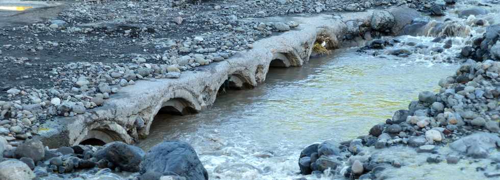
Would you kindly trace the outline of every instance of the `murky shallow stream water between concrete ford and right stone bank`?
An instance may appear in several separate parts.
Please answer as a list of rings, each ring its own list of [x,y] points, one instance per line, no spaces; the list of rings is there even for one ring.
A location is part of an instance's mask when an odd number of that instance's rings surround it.
[[[187,141],[211,179],[299,177],[297,160],[305,146],[365,135],[408,108],[419,92],[437,91],[439,79],[457,67],[336,50],[303,67],[270,69],[264,84],[219,95],[213,107],[197,114],[160,114],[148,138],[136,145]]]

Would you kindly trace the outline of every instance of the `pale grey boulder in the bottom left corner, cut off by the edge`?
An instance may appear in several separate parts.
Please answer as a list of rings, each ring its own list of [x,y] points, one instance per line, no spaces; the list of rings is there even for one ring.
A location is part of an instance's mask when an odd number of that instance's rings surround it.
[[[18,160],[7,160],[0,163],[0,179],[2,180],[27,180],[35,178],[35,174]]]

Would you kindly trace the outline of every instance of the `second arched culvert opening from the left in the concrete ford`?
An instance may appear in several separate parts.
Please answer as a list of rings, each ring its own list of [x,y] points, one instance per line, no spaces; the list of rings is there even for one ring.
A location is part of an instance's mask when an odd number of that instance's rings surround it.
[[[189,102],[182,98],[173,98],[163,103],[162,108],[158,113],[173,114],[173,115],[187,115],[195,113],[196,110],[190,105]]]

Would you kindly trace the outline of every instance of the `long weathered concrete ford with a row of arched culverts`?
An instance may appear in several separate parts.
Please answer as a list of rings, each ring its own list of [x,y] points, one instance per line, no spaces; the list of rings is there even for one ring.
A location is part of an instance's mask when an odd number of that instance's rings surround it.
[[[384,29],[384,33],[401,30],[394,29],[394,24],[402,27],[401,24],[411,22],[411,17],[397,18],[391,12],[416,13],[409,8],[395,8],[340,16],[294,17],[293,20],[300,23],[295,30],[259,40],[253,49],[238,52],[226,61],[200,66],[197,71],[182,72],[179,79],[141,80],[135,85],[122,87],[102,107],[45,123],[37,138],[51,147],[76,145],[87,139],[133,143],[148,135],[160,110],[177,114],[197,112],[215,101],[224,82],[236,88],[252,88],[265,80],[270,66],[302,66],[309,61],[319,37],[327,37],[324,43],[329,49],[359,46],[365,41],[360,35],[377,31],[371,27],[374,19],[378,20],[375,23],[377,28]],[[388,26],[380,28],[384,24]],[[354,38],[346,40],[346,35]]]

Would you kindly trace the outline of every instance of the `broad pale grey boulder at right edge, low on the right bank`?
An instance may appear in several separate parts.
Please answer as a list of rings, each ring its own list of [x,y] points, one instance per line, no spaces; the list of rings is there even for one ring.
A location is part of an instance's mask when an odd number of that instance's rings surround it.
[[[449,147],[473,158],[486,158],[490,149],[500,146],[500,137],[492,133],[476,133],[451,143]]]

